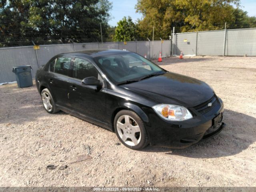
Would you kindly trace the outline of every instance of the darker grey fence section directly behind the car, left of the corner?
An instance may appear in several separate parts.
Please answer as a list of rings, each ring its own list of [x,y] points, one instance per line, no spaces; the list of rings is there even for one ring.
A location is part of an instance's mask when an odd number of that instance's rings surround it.
[[[32,66],[32,77],[36,70],[46,64],[53,56],[86,49],[119,49],[136,52],[147,58],[158,58],[162,50],[162,56],[171,55],[171,41],[137,41],[137,42],[105,42],[105,43],[79,43],[79,44],[55,44],[42,45],[40,49],[34,50],[34,46],[0,48],[0,83],[15,81],[12,67],[21,65]]]

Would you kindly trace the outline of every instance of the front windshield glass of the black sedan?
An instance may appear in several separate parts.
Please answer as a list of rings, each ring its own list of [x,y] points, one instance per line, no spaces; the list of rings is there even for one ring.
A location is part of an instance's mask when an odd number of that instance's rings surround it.
[[[118,84],[165,73],[165,70],[135,53],[100,56],[95,60],[107,76]]]

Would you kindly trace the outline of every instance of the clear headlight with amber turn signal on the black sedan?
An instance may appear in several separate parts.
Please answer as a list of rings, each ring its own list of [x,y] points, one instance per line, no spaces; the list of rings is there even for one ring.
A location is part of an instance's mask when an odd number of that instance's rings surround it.
[[[165,120],[183,121],[193,118],[189,110],[183,106],[159,104],[152,107]]]

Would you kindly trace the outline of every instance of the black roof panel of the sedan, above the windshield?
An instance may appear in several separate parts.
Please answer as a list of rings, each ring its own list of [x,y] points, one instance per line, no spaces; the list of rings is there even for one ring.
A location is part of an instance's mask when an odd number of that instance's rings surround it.
[[[98,56],[106,56],[106,55],[113,55],[113,54],[120,54],[120,53],[128,53],[129,51],[126,50],[115,50],[115,49],[88,49],[88,50],[78,50],[68,53],[59,54],[62,55],[80,55],[80,56],[87,56],[87,57],[98,57]]]

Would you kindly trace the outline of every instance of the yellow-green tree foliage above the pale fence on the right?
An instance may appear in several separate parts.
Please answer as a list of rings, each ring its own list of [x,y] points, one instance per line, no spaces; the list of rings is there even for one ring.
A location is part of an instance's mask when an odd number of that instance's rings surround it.
[[[138,0],[136,11],[143,14],[139,21],[140,36],[168,38],[176,32],[253,27],[255,17],[248,17],[239,8],[239,0]]]

